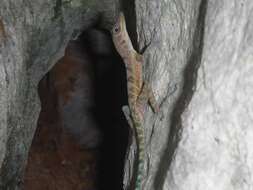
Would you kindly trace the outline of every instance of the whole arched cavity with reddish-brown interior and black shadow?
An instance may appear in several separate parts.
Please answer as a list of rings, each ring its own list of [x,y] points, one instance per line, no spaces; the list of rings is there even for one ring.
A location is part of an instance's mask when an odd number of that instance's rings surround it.
[[[95,25],[70,41],[39,85],[42,110],[25,189],[123,189],[126,89],[108,31]]]

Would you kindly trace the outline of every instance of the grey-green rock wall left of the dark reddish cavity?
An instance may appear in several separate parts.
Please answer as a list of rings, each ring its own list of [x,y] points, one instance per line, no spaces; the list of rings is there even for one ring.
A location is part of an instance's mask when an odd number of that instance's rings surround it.
[[[112,22],[113,2],[1,0],[0,189],[19,189],[22,184],[39,114],[39,80],[71,38],[99,18],[105,26]]]

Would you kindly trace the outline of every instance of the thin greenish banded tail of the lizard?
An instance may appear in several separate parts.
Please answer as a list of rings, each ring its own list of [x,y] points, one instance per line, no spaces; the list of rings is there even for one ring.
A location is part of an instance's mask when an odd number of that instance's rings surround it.
[[[142,123],[135,123],[137,136],[138,168],[135,182],[135,190],[141,190],[141,183],[144,174],[144,129]]]

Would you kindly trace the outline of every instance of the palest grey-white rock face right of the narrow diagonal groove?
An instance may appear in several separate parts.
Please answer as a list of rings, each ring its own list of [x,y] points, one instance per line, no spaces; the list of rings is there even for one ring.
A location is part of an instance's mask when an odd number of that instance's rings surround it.
[[[201,64],[164,189],[253,189],[253,2],[208,1]]]

